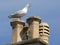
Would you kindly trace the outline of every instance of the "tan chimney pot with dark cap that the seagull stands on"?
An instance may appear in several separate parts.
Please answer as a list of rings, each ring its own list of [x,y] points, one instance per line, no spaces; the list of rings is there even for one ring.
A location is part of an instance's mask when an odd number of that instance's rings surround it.
[[[12,27],[12,43],[22,41],[20,32],[23,29],[23,26],[25,25],[24,21],[20,19],[14,19],[10,22]]]

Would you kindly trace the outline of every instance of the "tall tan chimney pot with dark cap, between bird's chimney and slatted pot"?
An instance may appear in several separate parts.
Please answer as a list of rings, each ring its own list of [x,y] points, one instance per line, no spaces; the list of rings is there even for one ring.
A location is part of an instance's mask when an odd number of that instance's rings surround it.
[[[26,21],[29,29],[27,31],[28,39],[39,38],[39,24],[41,19],[37,16],[31,16]]]

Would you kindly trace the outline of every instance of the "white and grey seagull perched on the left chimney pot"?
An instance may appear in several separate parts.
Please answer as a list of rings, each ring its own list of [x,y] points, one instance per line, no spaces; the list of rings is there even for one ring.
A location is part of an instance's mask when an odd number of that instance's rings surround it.
[[[8,16],[8,18],[21,18],[28,12],[29,8],[30,8],[30,3],[28,3],[22,10],[19,10]]]

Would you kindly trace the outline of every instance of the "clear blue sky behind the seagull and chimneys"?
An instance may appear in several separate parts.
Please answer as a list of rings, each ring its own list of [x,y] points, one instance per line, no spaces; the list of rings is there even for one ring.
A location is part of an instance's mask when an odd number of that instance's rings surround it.
[[[11,19],[8,16],[27,3],[31,3],[31,7],[23,20],[39,16],[50,26],[49,44],[60,45],[60,0],[0,0],[0,45],[12,42]]]

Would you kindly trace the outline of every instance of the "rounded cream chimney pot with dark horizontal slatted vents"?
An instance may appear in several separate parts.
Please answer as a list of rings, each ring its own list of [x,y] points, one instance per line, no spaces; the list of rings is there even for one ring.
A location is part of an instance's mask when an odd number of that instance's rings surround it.
[[[40,34],[40,38],[46,43],[48,43],[49,36],[50,36],[50,29],[47,23],[45,22],[40,23],[39,34]]]

